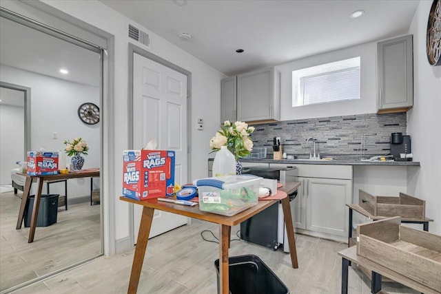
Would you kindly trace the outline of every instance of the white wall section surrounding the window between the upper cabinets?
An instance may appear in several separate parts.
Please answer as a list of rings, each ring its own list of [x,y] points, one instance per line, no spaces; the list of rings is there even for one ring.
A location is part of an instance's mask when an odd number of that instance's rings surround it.
[[[276,66],[280,71],[280,120],[347,116],[377,112],[376,104],[376,56],[377,43],[365,43],[351,48],[327,52]],[[361,98],[338,103],[323,103],[292,107],[292,71],[305,67],[331,63],[360,56]]]

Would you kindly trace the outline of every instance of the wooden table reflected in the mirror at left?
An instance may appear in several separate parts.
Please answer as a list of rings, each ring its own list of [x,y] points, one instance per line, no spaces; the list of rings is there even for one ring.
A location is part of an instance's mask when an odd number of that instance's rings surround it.
[[[29,231],[29,238],[28,243],[34,242],[34,235],[35,235],[35,228],[37,227],[37,217],[38,217],[38,211],[40,207],[40,200],[41,200],[41,191],[43,190],[43,182],[46,180],[68,180],[70,178],[94,178],[99,177],[99,169],[85,169],[83,171],[72,171],[69,172],[69,174],[57,174],[57,175],[41,175],[41,176],[30,176],[28,174],[20,174],[21,176],[26,177],[25,181],[25,187],[23,189],[23,196],[21,197],[21,204],[20,204],[20,210],[19,210],[19,218],[17,220],[17,227],[16,229],[21,229],[21,224],[23,223],[23,218],[25,215],[25,207],[26,207],[26,200],[28,200],[29,193],[30,193],[30,187],[32,185],[32,182],[34,180],[38,181],[38,189],[37,194],[34,198],[34,207],[32,207],[32,218],[30,220],[30,231]],[[66,201],[68,199],[66,198]],[[30,208],[29,208],[30,209]]]

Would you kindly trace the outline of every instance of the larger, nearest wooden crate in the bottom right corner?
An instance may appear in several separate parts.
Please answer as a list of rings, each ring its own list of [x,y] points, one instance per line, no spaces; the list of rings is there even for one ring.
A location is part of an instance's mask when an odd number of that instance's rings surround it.
[[[357,254],[441,293],[441,235],[404,227],[400,217],[357,226]]]

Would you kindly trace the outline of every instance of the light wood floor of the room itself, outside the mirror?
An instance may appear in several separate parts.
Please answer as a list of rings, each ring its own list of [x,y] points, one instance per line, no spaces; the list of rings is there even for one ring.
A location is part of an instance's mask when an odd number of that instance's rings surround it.
[[[281,249],[273,251],[236,240],[238,229],[240,226],[232,228],[234,241],[229,255],[258,255],[287,285],[289,293],[341,293],[342,262],[337,253],[347,244],[296,235],[299,268],[293,269],[289,255]],[[193,220],[191,225],[150,239],[138,293],[217,293],[214,261],[218,259],[218,244],[203,240],[204,230],[218,236],[216,224]],[[209,233],[203,235],[214,240]],[[133,255],[131,249],[110,258],[100,257],[15,293],[127,293]],[[382,287],[387,293],[418,293],[397,283],[383,283]],[[349,293],[370,293],[369,280],[358,270],[349,269]]]

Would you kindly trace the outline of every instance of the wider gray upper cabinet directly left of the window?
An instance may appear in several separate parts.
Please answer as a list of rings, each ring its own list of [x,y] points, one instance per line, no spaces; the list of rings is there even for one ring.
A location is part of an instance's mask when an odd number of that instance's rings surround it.
[[[237,120],[280,120],[280,72],[274,67],[237,76]]]

